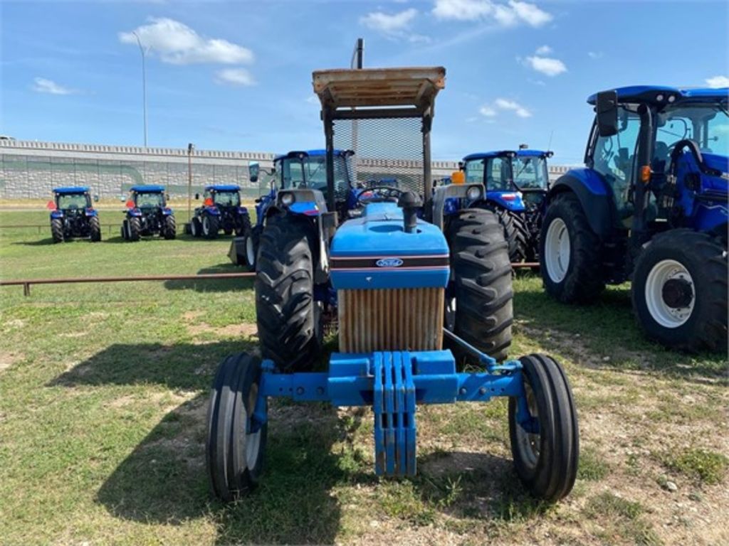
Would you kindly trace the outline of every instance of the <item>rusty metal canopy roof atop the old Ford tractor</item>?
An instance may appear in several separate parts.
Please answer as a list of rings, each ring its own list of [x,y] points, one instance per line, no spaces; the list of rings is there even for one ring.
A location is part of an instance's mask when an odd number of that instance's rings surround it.
[[[318,70],[313,87],[322,107],[366,108],[432,105],[445,87],[445,68],[362,68]]]

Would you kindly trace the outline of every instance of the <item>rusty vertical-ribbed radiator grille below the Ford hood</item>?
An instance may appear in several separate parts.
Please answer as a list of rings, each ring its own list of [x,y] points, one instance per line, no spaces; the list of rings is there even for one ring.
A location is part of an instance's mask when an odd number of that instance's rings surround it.
[[[339,290],[341,352],[443,348],[443,288]]]

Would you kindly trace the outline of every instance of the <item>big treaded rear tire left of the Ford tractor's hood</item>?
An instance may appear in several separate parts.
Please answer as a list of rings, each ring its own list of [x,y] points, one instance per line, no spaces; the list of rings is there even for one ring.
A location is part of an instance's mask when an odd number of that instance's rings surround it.
[[[256,267],[261,354],[284,371],[311,369],[321,349],[321,314],[313,297],[313,229],[305,218],[268,218]]]

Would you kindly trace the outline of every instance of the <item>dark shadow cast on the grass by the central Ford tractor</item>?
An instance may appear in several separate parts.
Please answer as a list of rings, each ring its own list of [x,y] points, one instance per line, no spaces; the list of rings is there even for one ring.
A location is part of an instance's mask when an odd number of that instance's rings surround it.
[[[369,468],[353,469],[332,450],[359,427],[359,419],[340,419],[330,405],[272,400],[260,487],[234,505],[211,499],[205,462],[208,389],[219,360],[252,346],[112,345],[53,379],[47,386],[158,384],[187,397],[197,393],[165,414],[118,464],[96,502],[114,517],[137,523],[180,525],[206,518],[216,524],[220,544],[333,543],[341,509],[332,488],[371,478]]]

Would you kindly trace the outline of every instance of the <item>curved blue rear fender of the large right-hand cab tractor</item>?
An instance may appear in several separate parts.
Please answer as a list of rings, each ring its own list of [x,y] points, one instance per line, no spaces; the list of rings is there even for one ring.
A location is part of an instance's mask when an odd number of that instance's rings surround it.
[[[615,232],[617,213],[612,190],[601,175],[592,169],[572,169],[561,175],[547,192],[547,207],[555,197],[572,192],[580,199],[590,229],[602,240]]]

